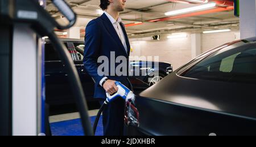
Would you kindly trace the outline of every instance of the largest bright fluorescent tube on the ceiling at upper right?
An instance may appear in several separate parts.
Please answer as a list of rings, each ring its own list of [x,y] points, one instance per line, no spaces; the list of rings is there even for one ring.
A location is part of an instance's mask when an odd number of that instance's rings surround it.
[[[216,7],[216,3],[208,3],[208,4],[205,4],[205,5],[184,8],[184,9],[181,9],[181,10],[170,11],[170,12],[166,12],[165,15],[170,16],[170,15],[185,14],[185,13],[188,13],[188,12],[205,10],[205,9],[209,9],[209,8],[213,8],[213,7]]]

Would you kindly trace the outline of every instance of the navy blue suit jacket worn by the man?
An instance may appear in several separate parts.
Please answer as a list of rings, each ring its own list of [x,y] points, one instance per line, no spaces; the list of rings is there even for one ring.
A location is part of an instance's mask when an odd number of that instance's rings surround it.
[[[106,91],[101,87],[100,81],[105,76],[98,75],[98,66],[97,63],[98,57],[106,56],[109,59],[109,72],[110,72],[110,52],[115,52],[115,58],[118,56],[126,57],[127,60],[127,73],[128,71],[128,61],[130,55],[130,43],[127,37],[127,33],[125,31],[125,25],[121,23],[121,27],[123,33],[125,34],[127,52],[125,47],[115,31],[113,24],[110,22],[108,16],[103,14],[101,17],[94,19],[89,22],[87,25],[85,32],[85,51],[84,51],[84,67],[86,72],[93,77],[95,81],[95,92],[94,98],[106,98]],[[119,63],[120,64],[120,63]],[[115,63],[115,68],[119,65]],[[113,66],[113,65],[112,65]],[[109,74],[110,75],[110,74]],[[128,76],[106,76],[110,80],[120,81],[122,84],[126,85],[126,87],[130,87],[130,81],[128,80]]]

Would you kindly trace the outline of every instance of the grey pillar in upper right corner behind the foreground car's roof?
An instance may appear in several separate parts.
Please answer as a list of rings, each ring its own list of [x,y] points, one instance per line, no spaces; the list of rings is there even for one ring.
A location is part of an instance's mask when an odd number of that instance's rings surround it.
[[[241,39],[256,36],[256,0],[240,1]]]

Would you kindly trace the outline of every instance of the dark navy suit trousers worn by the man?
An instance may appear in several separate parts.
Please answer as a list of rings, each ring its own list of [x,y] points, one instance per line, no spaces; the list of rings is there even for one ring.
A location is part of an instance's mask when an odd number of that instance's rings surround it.
[[[104,101],[104,99],[100,99],[100,104],[102,105]],[[104,136],[123,136],[124,116],[125,100],[117,98],[110,102],[102,112]]]

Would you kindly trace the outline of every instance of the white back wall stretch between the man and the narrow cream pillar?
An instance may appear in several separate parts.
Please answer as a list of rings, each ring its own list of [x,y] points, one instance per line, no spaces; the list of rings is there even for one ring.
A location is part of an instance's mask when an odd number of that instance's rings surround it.
[[[191,59],[191,37],[167,39],[167,35],[162,35],[159,41],[139,41],[131,42],[133,52],[131,55],[159,56],[160,62],[172,63],[176,69]],[[140,50],[140,51],[138,51]]]

